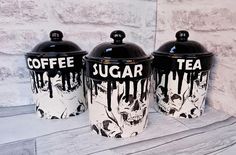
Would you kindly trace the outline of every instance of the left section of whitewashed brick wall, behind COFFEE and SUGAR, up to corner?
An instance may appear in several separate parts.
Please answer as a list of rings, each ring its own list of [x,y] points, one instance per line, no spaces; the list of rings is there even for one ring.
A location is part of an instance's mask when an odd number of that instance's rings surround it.
[[[90,51],[122,29],[126,40],[154,50],[156,1],[0,0],[0,106],[31,104],[24,53],[53,29]]]

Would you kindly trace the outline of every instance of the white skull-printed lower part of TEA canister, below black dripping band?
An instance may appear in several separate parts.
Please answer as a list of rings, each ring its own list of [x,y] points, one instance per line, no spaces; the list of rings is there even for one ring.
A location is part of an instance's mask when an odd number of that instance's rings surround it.
[[[192,85],[192,95],[190,95],[191,83],[187,82],[187,73],[184,73],[183,76],[181,93],[178,93],[179,77],[176,76],[174,80],[173,71],[163,75],[161,79],[158,79],[160,84],[154,88],[155,109],[160,113],[176,118],[199,117],[205,108],[209,74],[210,71],[200,71],[197,74]],[[166,76],[168,76],[167,96],[163,93]]]

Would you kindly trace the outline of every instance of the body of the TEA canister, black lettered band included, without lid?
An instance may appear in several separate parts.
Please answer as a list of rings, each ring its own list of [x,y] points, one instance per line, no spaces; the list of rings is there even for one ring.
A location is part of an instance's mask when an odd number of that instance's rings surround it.
[[[205,107],[211,56],[157,56],[154,64],[155,109],[177,118],[200,116]]]

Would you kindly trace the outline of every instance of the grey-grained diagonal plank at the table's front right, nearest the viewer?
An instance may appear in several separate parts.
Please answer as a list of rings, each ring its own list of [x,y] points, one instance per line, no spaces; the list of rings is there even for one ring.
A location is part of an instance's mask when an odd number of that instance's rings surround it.
[[[236,118],[201,128],[111,148],[120,154],[212,154],[236,143]]]

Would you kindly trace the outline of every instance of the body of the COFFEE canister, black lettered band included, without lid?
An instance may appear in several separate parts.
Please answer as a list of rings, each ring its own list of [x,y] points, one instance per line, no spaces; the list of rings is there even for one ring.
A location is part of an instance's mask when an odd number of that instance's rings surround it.
[[[63,119],[87,109],[82,56],[65,55],[26,55],[33,102],[42,118]]]

